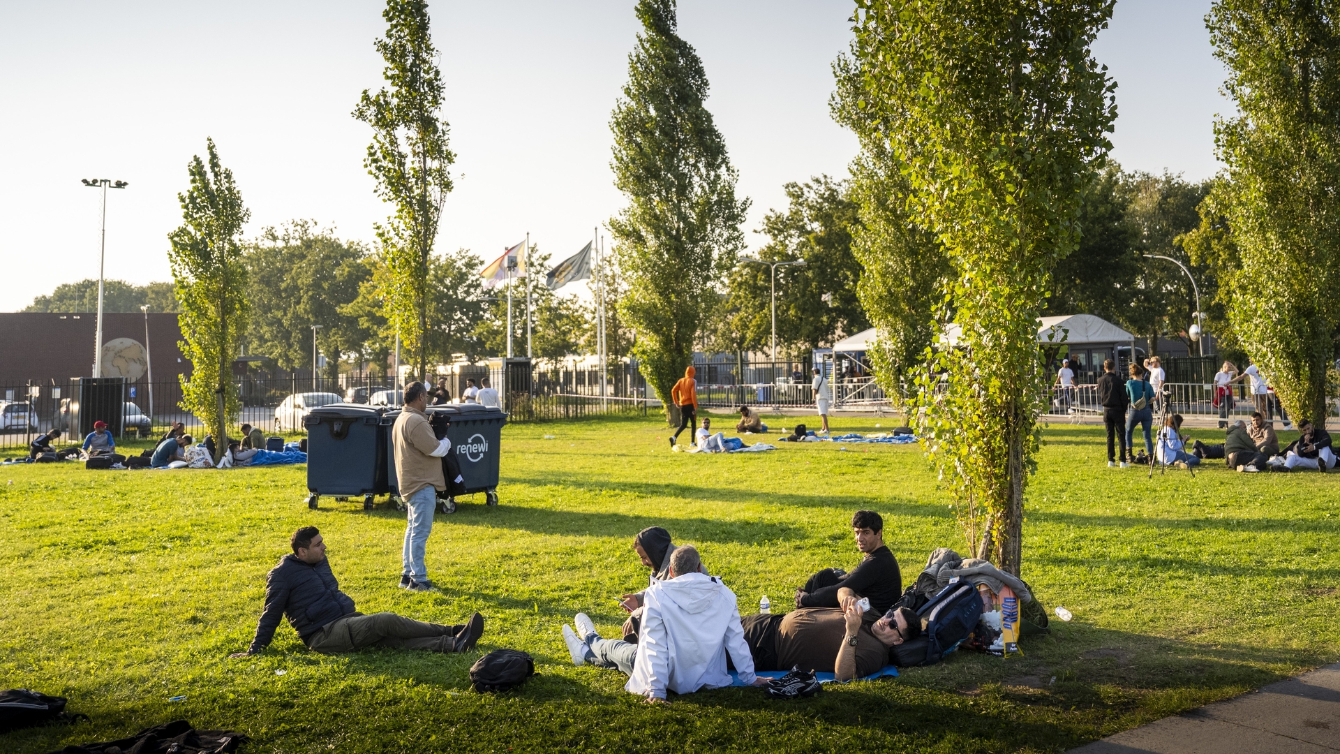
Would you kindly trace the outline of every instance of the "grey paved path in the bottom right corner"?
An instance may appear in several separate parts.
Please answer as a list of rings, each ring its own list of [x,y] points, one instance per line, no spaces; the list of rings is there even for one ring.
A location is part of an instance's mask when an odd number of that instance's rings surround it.
[[[1110,735],[1071,754],[1340,751],[1340,663]]]

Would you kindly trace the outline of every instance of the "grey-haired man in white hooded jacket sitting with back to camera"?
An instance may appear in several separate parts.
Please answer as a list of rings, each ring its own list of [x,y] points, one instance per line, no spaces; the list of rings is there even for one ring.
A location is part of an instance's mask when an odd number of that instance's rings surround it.
[[[768,683],[754,676],[734,593],[701,570],[702,559],[693,545],[675,547],[670,578],[653,578],[642,596],[645,612],[636,644],[600,639],[591,618],[578,613],[574,618],[578,631],[563,627],[572,664],[591,663],[626,672],[624,691],[653,704],[665,703],[666,691],[693,694],[730,686],[726,652],[740,680],[753,686]]]

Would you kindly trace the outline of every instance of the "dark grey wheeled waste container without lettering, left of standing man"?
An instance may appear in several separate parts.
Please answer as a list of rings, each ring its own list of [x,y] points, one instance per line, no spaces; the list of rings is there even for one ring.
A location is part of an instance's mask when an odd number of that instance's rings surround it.
[[[363,510],[374,495],[385,495],[390,420],[386,409],[366,404],[330,404],[303,419],[307,428],[307,507],[320,495],[363,495]]]

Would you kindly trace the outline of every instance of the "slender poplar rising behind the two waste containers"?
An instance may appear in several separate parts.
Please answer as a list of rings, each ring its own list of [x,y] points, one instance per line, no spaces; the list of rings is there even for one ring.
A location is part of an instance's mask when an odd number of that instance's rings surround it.
[[[373,126],[363,166],[377,178],[377,195],[395,207],[395,215],[377,225],[386,271],[378,279],[382,314],[414,354],[423,378],[430,339],[429,256],[452,191],[449,168],[456,154],[448,149],[450,125],[440,117],[442,74],[429,36],[427,3],[387,0],[382,17],[386,38],[374,46],[386,60],[382,75],[390,86],[377,94],[364,89],[354,117]]]

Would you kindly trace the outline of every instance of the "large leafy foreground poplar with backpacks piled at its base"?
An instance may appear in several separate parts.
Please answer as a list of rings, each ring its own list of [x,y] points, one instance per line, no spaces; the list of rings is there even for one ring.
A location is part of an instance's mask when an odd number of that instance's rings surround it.
[[[1018,574],[1044,408],[1037,319],[1053,266],[1077,244],[1081,189],[1111,148],[1114,85],[1089,46],[1112,1],[856,5],[856,106],[882,118],[907,207],[953,270],[941,315],[959,335],[938,342],[919,377],[921,433],[969,545]]]

